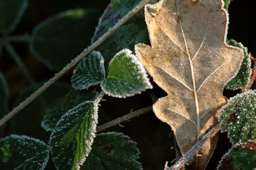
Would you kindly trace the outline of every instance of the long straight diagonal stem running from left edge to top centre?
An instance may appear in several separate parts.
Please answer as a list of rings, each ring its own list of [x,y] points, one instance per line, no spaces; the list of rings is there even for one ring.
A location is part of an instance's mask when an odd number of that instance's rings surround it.
[[[135,6],[128,14],[120,19],[110,30],[103,34],[97,41],[91,44],[87,49],[85,49],[81,54],[79,54],[75,59],[73,59],[66,67],[64,67],[61,71],[55,74],[53,78],[51,78],[48,82],[46,82],[43,86],[37,89],[30,97],[28,97],[25,101],[21,102],[16,108],[14,108],[11,112],[9,112],[5,117],[0,120],[0,126],[3,125],[6,121],[14,117],[21,109],[27,106],[30,102],[36,99],[43,91],[45,91],[48,87],[53,85],[61,76],[63,76],[67,71],[69,71],[73,66],[75,66],[83,57],[88,55],[91,51],[93,51],[96,47],[98,47],[105,39],[107,39],[113,32],[115,32],[120,26],[122,26],[129,18],[131,18],[134,14],[136,14],[142,7],[146,5],[150,0],[143,0],[137,6]]]

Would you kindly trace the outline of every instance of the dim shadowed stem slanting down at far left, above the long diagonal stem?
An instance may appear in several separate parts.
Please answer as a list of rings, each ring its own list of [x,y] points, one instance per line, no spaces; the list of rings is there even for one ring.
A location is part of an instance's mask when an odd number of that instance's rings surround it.
[[[15,61],[15,63],[18,65],[18,67],[21,69],[21,71],[23,72],[24,76],[27,78],[27,80],[29,81],[29,83],[31,85],[34,85],[36,82],[33,79],[33,77],[31,76],[31,74],[29,73],[27,67],[24,65],[24,63],[22,62],[22,60],[20,59],[18,53],[15,51],[15,49],[13,48],[13,46],[5,41],[4,42],[4,46],[7,50],[7,52],[10,54],[10,56],[13,58],[13,60]]]

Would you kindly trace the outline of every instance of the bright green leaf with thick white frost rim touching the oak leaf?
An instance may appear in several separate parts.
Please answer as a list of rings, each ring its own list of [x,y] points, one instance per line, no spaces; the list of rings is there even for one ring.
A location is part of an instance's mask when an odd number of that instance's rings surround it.
[[[137,57],[132,51],[124,49],[110,61],[109,72],[101,88],[110,96],[125,98],[152,88],[152,85]]]

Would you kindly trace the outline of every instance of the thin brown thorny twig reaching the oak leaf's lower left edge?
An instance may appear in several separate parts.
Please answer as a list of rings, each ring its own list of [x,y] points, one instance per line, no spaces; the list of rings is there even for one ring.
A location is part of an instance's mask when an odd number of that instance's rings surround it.
[[[136,110],[136,111],[131,112],[131,113],[129,113],[129,114],[125,115],[125,116],[122,116],[120,118],[114,119],[114,120],[112,120],[112,121],[110,121],[108,123],[100,125],[100,126],[98,126],[96,128],[96,131],[97,132],[103,131],[103,130],[111,127],[111,126],[115,126],[115,125],[117,125],[117,124],[119,124],[121,122],[127,121],[129,119],[135,118],[137,116],[143,115],[143,114],[151,112],[151,111],[153,111],[152,106],[147,106],[145,108],[142,108],[140,110]]]

